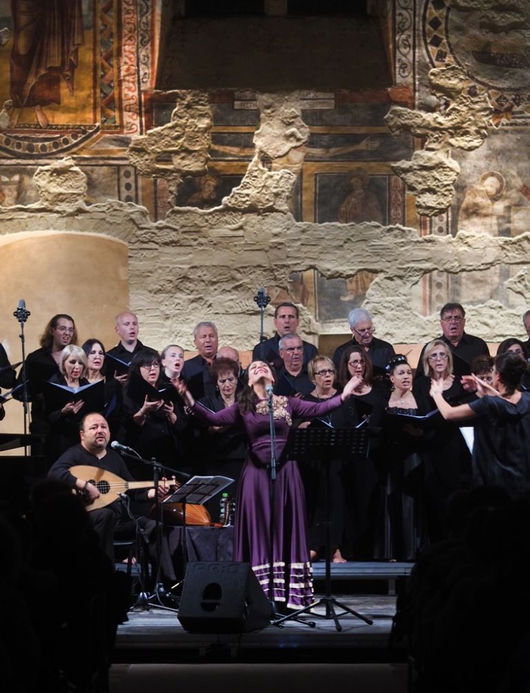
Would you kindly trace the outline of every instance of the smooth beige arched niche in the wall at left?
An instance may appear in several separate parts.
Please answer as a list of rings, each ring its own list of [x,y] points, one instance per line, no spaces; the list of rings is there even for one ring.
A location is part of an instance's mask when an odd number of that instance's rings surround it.
[[[0,236],[0,340],[10,362],[21,360],[20,326],[13,312],[26,301],[26,355],[56,313],[72,315],[79,343],[89,337],[109,349],[117,341],[116,313],[129,306],[128,249],[122,240],[75,231],[24,231]],[[22,406],[6,403],[4,432],[24,429]],[[10,454],[10,453],[7,453]]]

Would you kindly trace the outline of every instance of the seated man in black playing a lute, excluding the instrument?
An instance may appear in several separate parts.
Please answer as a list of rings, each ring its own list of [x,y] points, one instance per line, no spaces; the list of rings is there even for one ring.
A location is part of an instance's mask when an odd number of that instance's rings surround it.
[[[120,455],[114,450],[108,449],[109,426],[101,414],[87,414],[81,422],[80,444],[69,448],[57,462],[51,467],[48,476],[66,482],[71,489],[77,489],[87,499],[87,509],[90,510],[91,502],[100,497],[97,486],[91,484],[90,479],[74,476],[70,469],[76,466],[91,466],[103,469],[121,477],[126,482],[134,480]],[[146,484],[143,484],[146,485]],[[136,486],[138,487],[138,486]],[[166,484],[159,484],[159,495],[165,495],[169,490]],[[144,499],[154,499],[154,488],[145,491],[137,491]],[[116,496],[117,498],[117,496]],[[96,505],[99,505],[96,503]],[[101,545],[105,553],[114,564],[114,536],[131,532],[134,536],[134,523],[127,516],[119,500],[109,503],[105,507],[98,507],[89,513],[94,530],[100,537]],[[154,520],[140,518],[139,523],[148,536],[154,538]],[[162,575],[168,580],[175,579],[175,572],[171,563],[167,545],[163,542],[161,556]]]

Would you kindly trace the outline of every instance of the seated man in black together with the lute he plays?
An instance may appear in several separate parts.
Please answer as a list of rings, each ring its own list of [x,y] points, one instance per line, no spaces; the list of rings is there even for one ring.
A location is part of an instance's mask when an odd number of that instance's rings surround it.
[[[134,480],[127,469],[123,459],[111,448],[107,449],[110,434],[109,426],[104,416],[101,414],[87,414],[80,423],[80,444],[69,448],[53,464],[48,476],[66,482],[71,489],[76,489],[85,498],[87,510],[95,532],[100,537],[103,550],[114,563],[114,538],[134,538],[136,526],[125,509],[125,501],[120,500],[119,493],[127,490],[129,482]],[[94,474],[90,475],[86,467],[94,467]],[[79,468],[71,472],[71,468]],[[83,469],[85,467],[85,469]],[[105,473],[116,475],[114,483],[105,484]],[[98,479],[100,489],[96,486]],[[136,482],[134,487],[148,486],[148,482],[141,484]],[[168,486],[164,482],[159,484],[159,495],[168,493]],[[146,498],[154,499],[154,488],[143,491],[135,491],[140,497],[139,500]],[[91,506],[92,509],[91,509]],[[102,507],[103,506],[103,507]],[[139,525],[147,536],[153,534],[156,523],[148,518],[139,518]],[[169,563],[166,563],[169,561]],[[168,555],[162,556],[162,572],[169,578],[173,576],[173,568],[170,565]]]

